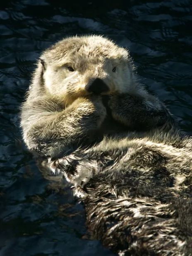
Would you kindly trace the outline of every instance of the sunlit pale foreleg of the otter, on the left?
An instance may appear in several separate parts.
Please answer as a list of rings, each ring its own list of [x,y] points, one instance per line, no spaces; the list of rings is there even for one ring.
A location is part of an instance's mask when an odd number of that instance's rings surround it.
[[[45,111],[43,116],[41,106],[43,109],[46,104],[46,100],[41,100],[41,104],[38,101],[30,102],[29,109],[24,106],[22,113],[26,145],[30,150],[45,156],[57,157],[63,150],[77,146],[84,138],[86,142],[93,140],[94,131],[100,127],[106,116],[106,109],[98,97],[91,100],[78,98],[68,108],[62,111],[52,110],[49,113]],[[37,121],[29,122],[30,118]]]

